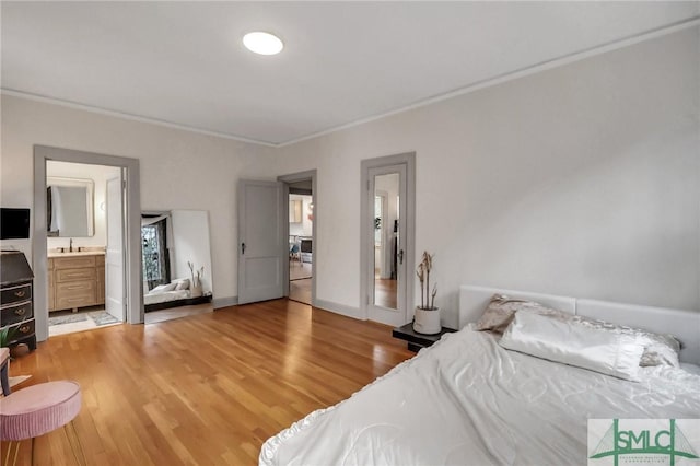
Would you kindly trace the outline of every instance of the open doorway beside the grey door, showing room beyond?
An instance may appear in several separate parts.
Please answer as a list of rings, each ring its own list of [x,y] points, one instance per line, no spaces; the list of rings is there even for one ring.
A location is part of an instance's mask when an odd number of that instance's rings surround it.
[[[292,301],[308,305],[313,305],[316,295],[315,175],[316,172],[312,171],[278,178],[284,183],[289,205],[287,295]]]

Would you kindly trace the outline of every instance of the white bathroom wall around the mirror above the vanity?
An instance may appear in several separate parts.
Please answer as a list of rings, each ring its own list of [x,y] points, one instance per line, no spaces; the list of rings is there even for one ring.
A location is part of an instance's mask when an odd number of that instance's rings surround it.
[[[107,244],[107,212],[101,208],[107,196],[107,179],[119,176],[120,168],[104,165],[88,165],[84,163],[69,163],[49,161],[46,163],[46,176],[59,176],[68,178],[92,179],[95,184],[93,198],[93,215],[95,234],[91,237],[73,238],[73,247],[93,246],[104,247]],[[49,249],[68,247],[68,237],[47,237],[46,245]]]

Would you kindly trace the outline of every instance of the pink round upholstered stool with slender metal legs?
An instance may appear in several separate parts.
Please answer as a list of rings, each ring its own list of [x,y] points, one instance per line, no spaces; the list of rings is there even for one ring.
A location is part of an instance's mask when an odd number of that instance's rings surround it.
[[[9,464],[12,442],[18,442],[12,464],[16,463],[20,441],[25,439],[32,439],[32,464],[34,464],[34,439],[59,427],[63,427],[78,464],[81,463],[77,447],[84,462],[82,446],[73,426],[73,419],[80,412],[81,404],[80,385],[71,381],[32,385],[0,398],[0,440],[10,441],[4,464]],[[67,428],[69,423],[73,430],[74,441],[71,440]]]

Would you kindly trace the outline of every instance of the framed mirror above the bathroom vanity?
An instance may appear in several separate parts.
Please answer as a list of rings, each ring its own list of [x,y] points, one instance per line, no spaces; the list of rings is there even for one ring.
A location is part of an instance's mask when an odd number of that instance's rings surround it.
[[[46,177],[47,235],[90,237],[94,232],[92,179]]]

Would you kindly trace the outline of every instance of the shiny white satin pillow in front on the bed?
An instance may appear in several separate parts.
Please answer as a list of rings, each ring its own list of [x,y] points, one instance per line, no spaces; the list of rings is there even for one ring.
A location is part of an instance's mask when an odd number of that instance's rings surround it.
[[[637,335],[615,334],[518,312],[500,345],[537,358],[639,381],[639,362],[646,342]]]

